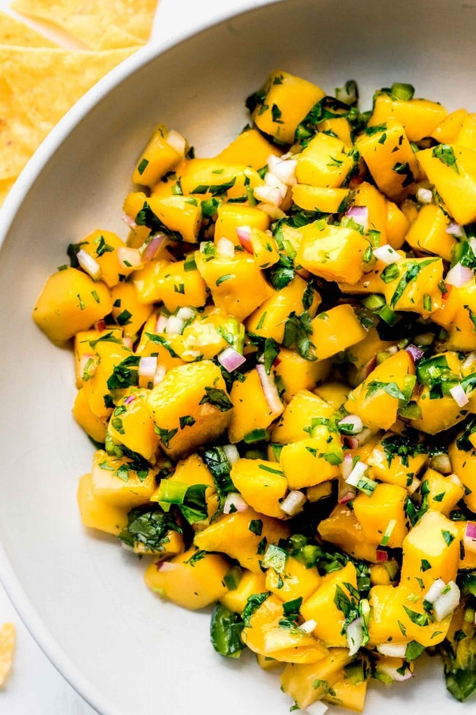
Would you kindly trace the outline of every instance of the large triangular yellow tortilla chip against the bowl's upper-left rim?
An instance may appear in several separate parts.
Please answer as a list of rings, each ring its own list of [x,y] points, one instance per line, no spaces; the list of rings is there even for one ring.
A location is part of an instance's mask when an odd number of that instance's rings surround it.
[[[0,46],[0,180],[18,176],[68,109],[136,49]]]

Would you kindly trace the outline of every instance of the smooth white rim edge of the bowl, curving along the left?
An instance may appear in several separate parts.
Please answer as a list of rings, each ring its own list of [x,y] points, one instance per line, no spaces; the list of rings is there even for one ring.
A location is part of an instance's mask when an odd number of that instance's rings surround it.
[[[109,92],[118,87],[118,85],[130,77],[131,74],[143,66],[146,66],[146,64],[162,54],[165,54],[166,51],[181,44],[183,41],[198,36],[214,26],[225,24],[235,17],[257,13],[265,6],[273,6],[292,1],[293,0],[253,0],[255,4],[245,9],[237,9],[236,7],[227,8],[226,4],[223,4],[218,10],[213,10],[212,21],[210,21],[210,18],[206,15],[200,15],[194,22],[193,27],[188,29],[179,28],[176,33],[174,32],[173,37],[168,39],[161,39],[160,37],[158,39],[152,38],[148,44],[121,61],[94,84],[91,89],[88,89],[88,92],[83,94],[83,97],[64,114],[64,117],[59,120],[58,124],[51,129],[51,132],[49,132],[41,142],[11,187],[3,206],[0,207],[0,260],[1,247],[9,235],[11,225],[21,208],[21,204],[24,202],[31,187],[33,187],[34,182],[40,176],[44,167],[46,167],[49,159],[53,157],[55,152],[61,147],[61,144],[69,137],[69,134],[74,131],[88,112],[91,112],[93,107],[95,107],[101,99],[106,97]],[[34,638],[34,641],[36,641],[36,644],[38,644],[56,671],[66,679],[76,693],[100,715],[122,715],[116,707],[96,689],[96,686],[93,686],[91,681],[81,674],[79,666],[76,666],[73,661],[69,659],[69,656],[61,646],[59,646],[56,638],[54,638],[49,628],[43,623],[33,603],[31,603],[29,597],[26,595],[19,578],[17,578],[14,573],[14,569],[11,566],[1,542],[0,583],[4,587],[7,596],[9,596],[22,623],[24,623],[24,626],[26,626]]]

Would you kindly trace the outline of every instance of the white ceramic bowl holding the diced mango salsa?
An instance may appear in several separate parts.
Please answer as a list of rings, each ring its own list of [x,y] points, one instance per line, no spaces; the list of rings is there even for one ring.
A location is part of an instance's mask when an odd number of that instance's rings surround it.
[[[70,416],[71,355],[31,321],[69,242],[125,235],[121,204],[151,129],[165,122],[213,155],[247,122],[244,99],[280,67],[332,93],[412,82],[417,96],[475,111],[476,6],[453,0],[286,0],[213,26],[161,54],[141,51],[93,89],[46,140],[2,211],[1,576],[27,625],[103,715],[278,715],[290,702],[252,657],[208,641],[208,613],[162,603],[143,566],[81,527],[76,483],[92,447]],[[368,715],[460,713],[439,661],[412,682],[373,686]],[[470,706],[467,706],[469,709]]]

